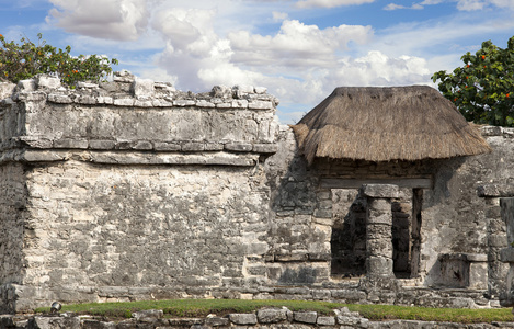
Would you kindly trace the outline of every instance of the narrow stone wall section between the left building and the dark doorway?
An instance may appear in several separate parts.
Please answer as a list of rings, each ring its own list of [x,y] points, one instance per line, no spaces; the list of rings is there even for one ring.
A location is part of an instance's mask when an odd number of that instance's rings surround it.
[[[265,163],[271,188],[264,269],[271,283],[321,284],[330,280],[332,201],[297,152],[293,131],[282,126],[278,150]]]

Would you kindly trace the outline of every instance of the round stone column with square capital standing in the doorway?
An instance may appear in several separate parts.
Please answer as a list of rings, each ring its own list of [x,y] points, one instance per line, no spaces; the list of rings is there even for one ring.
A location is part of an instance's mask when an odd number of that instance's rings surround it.
[[[362,193],[366,207],[366,276],[393,276],[391,198],[398,197],[397,185],[367,184]]]

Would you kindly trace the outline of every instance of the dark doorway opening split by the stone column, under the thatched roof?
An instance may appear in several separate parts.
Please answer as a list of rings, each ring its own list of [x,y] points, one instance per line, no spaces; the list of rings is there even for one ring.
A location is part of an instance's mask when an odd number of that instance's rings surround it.
[[[393,272],[398,279],[419,273],[422,189],[400,189],[391,203]],[[366,274],[366,198],[358,189],[332,189],[333,227],[331,276],[351,279]]]

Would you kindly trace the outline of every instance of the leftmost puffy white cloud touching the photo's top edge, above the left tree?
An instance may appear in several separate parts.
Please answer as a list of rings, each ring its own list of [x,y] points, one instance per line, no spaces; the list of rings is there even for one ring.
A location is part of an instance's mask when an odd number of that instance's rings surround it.
[[[135,41],[145,32],[149,11],[145,0],[50,0],[47,22],[70,33],[96,38]]]

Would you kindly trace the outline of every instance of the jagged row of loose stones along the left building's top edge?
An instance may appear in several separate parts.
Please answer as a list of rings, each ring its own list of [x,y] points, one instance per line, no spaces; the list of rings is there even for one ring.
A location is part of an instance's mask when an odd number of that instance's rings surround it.
[[[61,86],[50,76],[36,76],[0,87],[2,103],[45,99],[60,104],[107,104],[135,107],[197,106],[205,109],[272,110],[278,100],[266,88],[253,86],[215,86],[209,92],[176,90],[170,82],[139,79],[128,71],[115,72],[113,81],[78,82],[76,89]],[[38,94],[34,95],[34,94]]]

